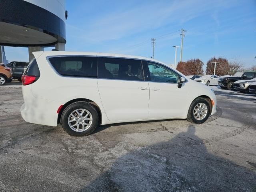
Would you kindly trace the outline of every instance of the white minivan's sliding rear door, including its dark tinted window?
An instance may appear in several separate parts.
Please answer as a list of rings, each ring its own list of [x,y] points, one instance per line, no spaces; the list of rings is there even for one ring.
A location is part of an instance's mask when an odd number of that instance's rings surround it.
[[[149,86],[141,60],[98,57],[98,89],[110,121],[148,118]]]

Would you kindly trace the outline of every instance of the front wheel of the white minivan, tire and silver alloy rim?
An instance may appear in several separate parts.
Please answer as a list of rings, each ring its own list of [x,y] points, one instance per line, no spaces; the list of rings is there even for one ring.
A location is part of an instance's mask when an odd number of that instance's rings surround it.
[[[205,122],[210,116],[210,103],[207,99],[198,97],[190,105],[187,120],[192,123],[200,124]]]

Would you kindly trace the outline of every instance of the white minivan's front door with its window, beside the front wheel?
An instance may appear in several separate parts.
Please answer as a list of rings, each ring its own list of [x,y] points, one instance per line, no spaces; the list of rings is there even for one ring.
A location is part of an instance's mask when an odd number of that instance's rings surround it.
[[[147,62],[150,87],[149,114],[155,118],[183,118],[186,113],[186,83],[178,88],[178,74],[169,68]]]

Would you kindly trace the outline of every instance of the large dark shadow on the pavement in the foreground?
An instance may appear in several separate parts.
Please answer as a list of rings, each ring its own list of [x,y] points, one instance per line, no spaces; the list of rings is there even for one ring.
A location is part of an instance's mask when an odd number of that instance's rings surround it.
[[[210,154],[195,140],[188,126],[168,142],[129,152],[80,191],[256,191],[254,168]]]

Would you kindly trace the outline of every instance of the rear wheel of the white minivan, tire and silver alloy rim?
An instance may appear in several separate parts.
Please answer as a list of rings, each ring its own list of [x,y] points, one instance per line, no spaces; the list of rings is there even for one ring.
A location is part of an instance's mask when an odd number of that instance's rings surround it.
[[[60,118],[62,128],[72,136],[89,135],[98,127],[98,123],[99,115],[96,108],[84,101],[67,106]]]

